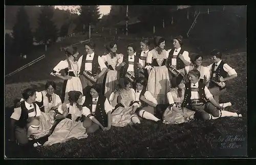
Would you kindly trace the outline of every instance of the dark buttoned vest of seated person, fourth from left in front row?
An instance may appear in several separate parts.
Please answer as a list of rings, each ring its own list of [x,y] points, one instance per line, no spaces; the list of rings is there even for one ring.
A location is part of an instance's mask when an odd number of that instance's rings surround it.
[[[98,98],[97,102],[92,101],[92,97],[91,95],[87,94],[86,95],[86,101],[84,101],[82,106],[86,106],[90,109],[91,114],[88,115],[87,117],[90,118],[91,116],[94,116],[99,122],[100,124],[102,124],[103,127],[107,127],[108,126],[108,114],[106,114],[105,112],[105,100],[106,97],[103,95],[100,95]],[[96,108],[95,108],[95,112],[92,112],[92,105],[96,104]]]

